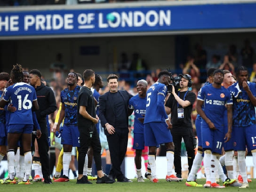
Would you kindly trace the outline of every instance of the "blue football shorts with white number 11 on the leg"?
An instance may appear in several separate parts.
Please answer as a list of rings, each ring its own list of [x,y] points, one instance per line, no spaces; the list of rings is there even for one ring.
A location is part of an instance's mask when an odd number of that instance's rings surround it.
[[[208,126],[201,126],[203,151],[211,150],[212,153],[221,154],[224,143],[224,129],[216,128],[211,130]]]

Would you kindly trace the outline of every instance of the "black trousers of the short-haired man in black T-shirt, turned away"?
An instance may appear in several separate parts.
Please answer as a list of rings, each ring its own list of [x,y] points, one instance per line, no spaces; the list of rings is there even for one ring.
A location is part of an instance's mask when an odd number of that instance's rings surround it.
[[[102,170],[101,144],[96,126],[93,126],[92,132],[88,133],[85,130],[79,129],[79,133],[80,147],[78,147],[78,174],[83,174],[84,160],[89,146],[93,148],[93,158],[97,171]]]

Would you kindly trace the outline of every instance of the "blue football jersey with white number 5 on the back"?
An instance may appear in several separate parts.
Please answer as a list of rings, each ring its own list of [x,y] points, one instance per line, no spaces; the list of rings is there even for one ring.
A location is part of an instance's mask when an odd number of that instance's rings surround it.
[[[156,82],[147,90],[147,102],[144,124],[148,122],[166,122],[168,118],[164,110],[164,102],[167,94],[165,84]],[[163,108],[157,107],[157,102],[163,103]]]

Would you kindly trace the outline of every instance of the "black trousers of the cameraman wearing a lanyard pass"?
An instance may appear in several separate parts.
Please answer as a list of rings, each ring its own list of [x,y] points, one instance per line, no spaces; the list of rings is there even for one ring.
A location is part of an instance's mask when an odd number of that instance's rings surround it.
[[[193,145],[193,129],[188,127],[175,127],[173,126],[171,129],[173,143],[175,145],[174,149],[174,166],[175,172],[177,174],[181,174],[181,141],[182,138],[184,140],[187,157],[188,157],[188,165],[189,172],[192,168],[193,161],[195,159],[195,148]]]

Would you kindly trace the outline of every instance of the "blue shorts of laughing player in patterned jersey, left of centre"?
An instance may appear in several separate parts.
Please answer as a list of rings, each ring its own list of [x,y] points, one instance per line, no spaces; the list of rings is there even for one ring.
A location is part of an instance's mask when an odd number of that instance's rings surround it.
[[[63,131],[61,133],[61,144],[72,145],[73,147],[80,147],[79,143],[79,131],[77,125],[63,125]]]

